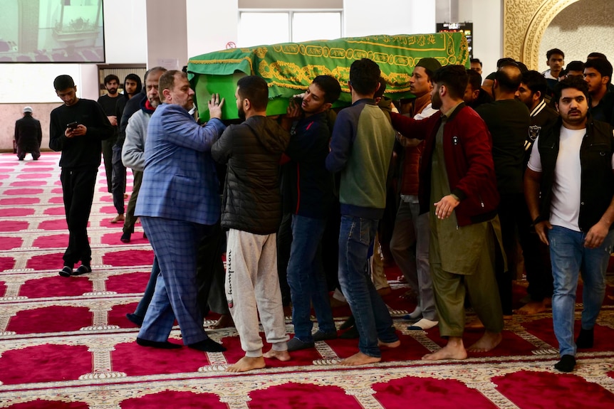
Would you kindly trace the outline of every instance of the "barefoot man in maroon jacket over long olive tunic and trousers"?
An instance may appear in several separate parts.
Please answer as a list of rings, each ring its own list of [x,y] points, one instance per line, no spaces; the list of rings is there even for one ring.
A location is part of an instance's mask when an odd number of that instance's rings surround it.
[[[486,329],[469,351],[490,351],[501,342],[503,315],[494,277],[500,228],[491,137],[484,121],[463,103],[467,72],[462,65],[439,68],[432,82],[432,107],[441,114],[420,121],[391,117],[401,134],[426,138],[420,209],[430,212],[430,267],[439,333],[448,338],[444,348],[422,357],[435,361],[467,358],[462,341],[466,292]]]

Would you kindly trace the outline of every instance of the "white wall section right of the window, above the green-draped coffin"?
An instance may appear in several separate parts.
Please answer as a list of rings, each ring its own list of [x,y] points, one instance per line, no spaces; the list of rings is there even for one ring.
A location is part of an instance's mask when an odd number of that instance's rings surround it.
[[[343,1],[344,36],[435,32],[435,1]]]

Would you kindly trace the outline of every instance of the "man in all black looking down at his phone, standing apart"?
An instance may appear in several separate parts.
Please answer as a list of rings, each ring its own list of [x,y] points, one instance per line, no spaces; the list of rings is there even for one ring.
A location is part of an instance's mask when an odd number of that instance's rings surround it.
[[[77,97],[77,87],[70,75],[59,75],[53,87],[64,104],[51,111],[49,147],[62,152],[60,180],[69,232],[60,275],[71,277],[92,271],[88,219],[102,141],[113,137],[115,129],[97,102]],[[73,270],[79,261],[80,266]]]

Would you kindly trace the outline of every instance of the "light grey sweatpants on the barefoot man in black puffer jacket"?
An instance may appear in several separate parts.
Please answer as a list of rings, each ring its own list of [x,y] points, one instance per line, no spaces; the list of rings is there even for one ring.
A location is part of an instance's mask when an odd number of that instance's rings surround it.
[[[288,334],[277,276],[276,234],[230,229],[226,257],[226,298],[245,356],[262,356],[258,314],[266,341],[275,351],[286,351]]]

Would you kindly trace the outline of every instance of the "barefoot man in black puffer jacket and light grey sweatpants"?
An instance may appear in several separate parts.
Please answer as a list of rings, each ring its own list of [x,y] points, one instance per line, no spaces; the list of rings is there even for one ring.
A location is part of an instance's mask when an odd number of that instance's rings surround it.
[[[213,145],[213,159],[228,164],[222,228],[229,229],[226,297],[245,356],[229,372],[264,368],[264,358],[288,361],[288,334],[277,277],[276,232],[281,221],[279,161],[290,134],[266,117],[269,87],[255,75],[236,83],[236,108],[245,121],[229,126]],[[258,313],[266,341],[262,354]]]

